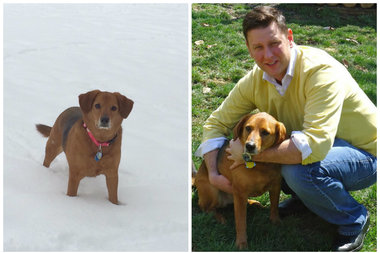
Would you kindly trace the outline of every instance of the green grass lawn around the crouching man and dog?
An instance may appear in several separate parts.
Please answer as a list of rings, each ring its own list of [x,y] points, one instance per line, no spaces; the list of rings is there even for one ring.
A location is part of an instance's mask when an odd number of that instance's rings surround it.
[[[192,151],[201,143],[207,117],[228,95],[236,82],[253,66],[242,35],[241,22],[255,4],[193,4],[192,10]],[[280,4],[299,45],[326,50],[348,70],[376,104],[376,9],[347,9],[327,5]],[[333,29],[327,30],[326,27]],[[196,45],[196,41],[203,44]],[[210,88],[204,92],[204,88]],[[193,156],[198,167],[201,159]],[[376,184],[353,192],[371,213],[371,226],[362,251],[377,249]],[[281,195],[281,199],[288,196]],[[265,209],[248,207],[250,251],[329,251],[336,228],[306,213],[269,221],[269,198],[256,198]],[[222,210],[227,224],[199,210],[197,193],[192,197],[193,251],[236,251],[233,208]]]

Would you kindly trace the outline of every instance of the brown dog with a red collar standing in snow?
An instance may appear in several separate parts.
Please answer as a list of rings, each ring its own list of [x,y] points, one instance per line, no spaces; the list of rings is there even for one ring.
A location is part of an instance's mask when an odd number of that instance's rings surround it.
[[[44,166],[65,152],[69,164],[67,195],[76,196],[84,177],[106,176],[108,198],[118,204],[118,168],[121,154],[121,122],[133,101],[120,93],[90,91],[79,95],[80,107],[71,107],[58,116],[53,127],[36,125],[49,137]]]

